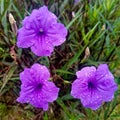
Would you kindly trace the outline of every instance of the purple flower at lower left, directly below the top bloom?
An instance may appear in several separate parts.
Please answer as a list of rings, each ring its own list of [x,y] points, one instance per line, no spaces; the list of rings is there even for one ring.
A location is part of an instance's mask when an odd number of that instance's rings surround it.
[[[48,109],[48,103],[53,102],[58,97],[59,88],[53,82],[49,82],[50,73],[48,69],[38,63],[31,68],[25,68],[20,73],[22,82],[20,97],[17,101],[20,103],[30,103],[37,108]]]

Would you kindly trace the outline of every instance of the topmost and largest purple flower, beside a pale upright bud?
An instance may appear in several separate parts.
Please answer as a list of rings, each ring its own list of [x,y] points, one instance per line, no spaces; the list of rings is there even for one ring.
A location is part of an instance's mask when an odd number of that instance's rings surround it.
[[[54,46],[61,45],[66,39],[67,29],[57,22],[57,17],[46,6],[33,10],[22,24],[17,46],[30,47],[37,56],[50,56]]]

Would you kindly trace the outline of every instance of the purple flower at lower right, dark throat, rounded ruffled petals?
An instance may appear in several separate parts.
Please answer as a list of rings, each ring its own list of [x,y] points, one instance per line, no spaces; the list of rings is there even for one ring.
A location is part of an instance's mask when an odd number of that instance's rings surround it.
[[[98,109],[103,101],[111,101],[117,84],[106,64],[96,69],[85,67],[76,73],[77,79],[72,84],[71,95],[81,100],[86,108]]]

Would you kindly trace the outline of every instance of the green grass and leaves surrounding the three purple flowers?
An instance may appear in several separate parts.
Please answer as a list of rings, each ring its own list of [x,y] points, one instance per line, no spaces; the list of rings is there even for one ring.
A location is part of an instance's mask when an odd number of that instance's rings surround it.
[[[8,14],[18,28],[34,8],[48,5],[69,33],[51,57],[36,57],[29,49],[16,47]],[[90,55],[85,55],[86,48]],[[51,80],[61,88],[59,98],[43,112],[16,102],[19,73],[38,62],[46,65]],[[118,83],[112,102],[97,111],[85,109],[70,96],[75,72],[83,66],[107,63]],[[120,1],[119,0],[0,0],[0,120],[120,120]]]

